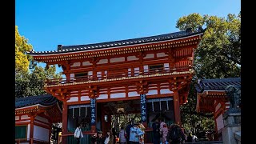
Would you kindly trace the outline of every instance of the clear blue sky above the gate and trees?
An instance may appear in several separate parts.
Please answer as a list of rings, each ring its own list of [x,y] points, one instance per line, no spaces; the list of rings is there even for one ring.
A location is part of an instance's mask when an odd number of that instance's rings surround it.
[[[226,17],[240,10],[239,0],[16,0],[15,24],[34,50],[45,51],[167,34],[188,14]]]

